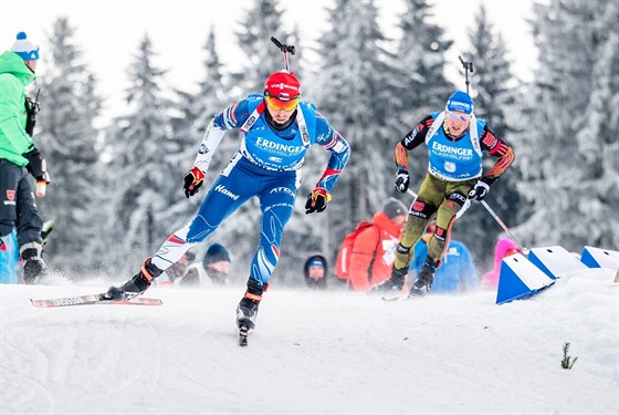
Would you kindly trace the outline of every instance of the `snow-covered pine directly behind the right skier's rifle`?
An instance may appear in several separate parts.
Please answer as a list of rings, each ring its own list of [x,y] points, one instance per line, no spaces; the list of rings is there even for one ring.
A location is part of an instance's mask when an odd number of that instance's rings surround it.
[[[475,102],[475,115],[486,120],[492,131],[504,138],[514,147],[517,163],[518,143],[513,133],[517,128],[510,125],[506,113],[517,112],[516,100],[518,80],[514,77],[507,61],[507,50],[501,34],[487,20],[485,7],[480,6],[475,14],[475,24],[469,32],[471,49],[463,53],[464,61],[473,62],[474,71],[469,73],[471,82],[470,93]],[[462,68],[462,73],[464,69]],[[460,87],[465,91],[464,73]],[[513,122],[523,123],[523,117]],[[522,128],[522,127],[521,127]],[[484,172],[496,163],[496,158],[489,157],[484,160]],[[520,177],[514,164],[507,173],[492,187],[486,203],[508,226],[517,224],[517,211],[521,208],[521,198],[516,183]],[[454,238],[462,240],[478,259],[478,266],[492,268],[493,252],[496,239],[503,229],[494,218],[478,203],[473,203],[466,212],[465,219],[460,220],[454,227]]]

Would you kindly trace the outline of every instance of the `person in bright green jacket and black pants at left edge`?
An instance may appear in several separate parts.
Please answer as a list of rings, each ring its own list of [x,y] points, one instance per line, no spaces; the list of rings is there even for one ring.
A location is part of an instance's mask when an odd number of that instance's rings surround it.
[[[41,258],[43,220],[34,201],[32,175],[50,183],[46,163],[32,141],[38,108],[27,100],[25,87],[35,80],[39,48],[24,32],[0,55],[0,248],[17,229],[25,283],[35,283],[46,270]]]

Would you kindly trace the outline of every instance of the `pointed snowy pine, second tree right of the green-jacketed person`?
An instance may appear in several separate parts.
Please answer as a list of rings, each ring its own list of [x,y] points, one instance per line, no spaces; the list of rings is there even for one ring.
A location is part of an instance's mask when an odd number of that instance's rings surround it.
[[[172,139],[168,115],[172,103],[161,86],[165,71],[157,69],[154,59],[145,35],[128,70],[129,114],[114,120],[106,137],[112,153],[107,189],[114,208],[103,229],[106,240],[114,241],[106,262],[123,271],[135,270],[175,230],[178,224],[164,218],[179,199],[186,173],[178,168],[183,148]]]

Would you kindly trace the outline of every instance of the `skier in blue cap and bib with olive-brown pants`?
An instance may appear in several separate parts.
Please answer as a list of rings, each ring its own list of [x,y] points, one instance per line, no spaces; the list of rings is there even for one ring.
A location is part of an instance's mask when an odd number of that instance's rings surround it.
[[[444,110],[426,116],[396,145],[396,189],[400,193],[406,193],[410,183],[408,152],[422,144],[429,152],[428,173],[411,206],[391,277],[376,286],[376,292],[402,290],[413,257],[412,248],[436,219],[437,231],[428,242],[428,255],[409,292],[411,295],[428,293],[434,271],[449,247],[455,219],[471,200],[483,200],[515,157],[512,147],[494,134],[487,122],[475,117],[473,100],[463,91],[454,92]],[[482,166],[484,156],[496,158],[487,170]]]

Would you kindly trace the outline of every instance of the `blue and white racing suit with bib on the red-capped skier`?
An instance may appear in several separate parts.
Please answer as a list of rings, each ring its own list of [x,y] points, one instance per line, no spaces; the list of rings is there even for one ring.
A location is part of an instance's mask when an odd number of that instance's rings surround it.
[[[305,153],[313,144],[331,152],[327,167],[316,187],[328,193],[346,166],[348,143],[316,111],[300,102],[287,127],[274,129],[266,121],[262,95],[231,105],[216,115],[202,138],[195,166],[207,172],[227,129],[244,133],[241,146],[219,175],[200,205],[196,217],[174,232],[153,257],[165,270],[192,246],[203,241],[221,222],[252,197],[260,200],[262,226],[260,246],[250,269],[250,279],[264,286],[280,257],[284,227],[292,216]]]

